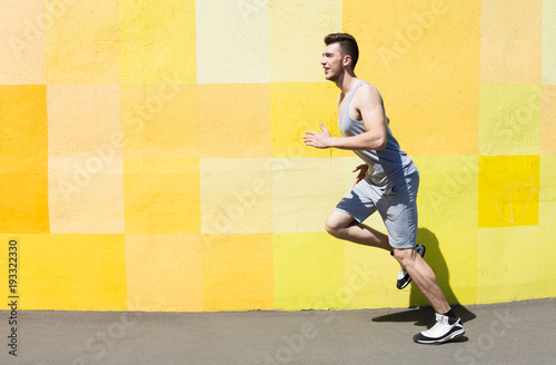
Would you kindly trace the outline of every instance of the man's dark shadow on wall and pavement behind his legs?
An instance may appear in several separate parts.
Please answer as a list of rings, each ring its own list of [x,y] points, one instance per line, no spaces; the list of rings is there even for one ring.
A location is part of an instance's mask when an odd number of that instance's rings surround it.
[[[438,238],[434,233],[427,228],[419,228],[417,231],[417,243],[425,245],[427,251],[425,253],[425,260],[433,268],[436,274],[436,279],[440,286],[446,299],[454,308],[456,315],[461,320],[468,322],[475,319],[477,316],[459,304],[454,290],[449,286],[449,272],[446,260],[440,251]],[[434,318],[434,310],[430,304],[425,299],[415,284],[410,284],[409,307],[418,307],[417,309],[404,310],[393,313],[385,316],[373,318],[374,322],[416,322],[416,326],[426,326],[430,324],[430,318]]]

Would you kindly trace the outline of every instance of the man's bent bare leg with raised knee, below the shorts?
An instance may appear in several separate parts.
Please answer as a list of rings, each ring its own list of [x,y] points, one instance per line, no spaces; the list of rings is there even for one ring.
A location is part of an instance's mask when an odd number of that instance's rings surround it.
[[[388,236],[357,221],[347,213],[334,210],[326,219],[326,231],[336,238],[391,251]]]

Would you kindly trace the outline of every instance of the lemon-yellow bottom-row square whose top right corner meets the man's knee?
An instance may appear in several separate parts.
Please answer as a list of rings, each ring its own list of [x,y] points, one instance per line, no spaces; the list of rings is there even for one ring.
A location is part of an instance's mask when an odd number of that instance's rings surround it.
[[[275,306],[344,309],[344,243],[327,233],[275,234]]]

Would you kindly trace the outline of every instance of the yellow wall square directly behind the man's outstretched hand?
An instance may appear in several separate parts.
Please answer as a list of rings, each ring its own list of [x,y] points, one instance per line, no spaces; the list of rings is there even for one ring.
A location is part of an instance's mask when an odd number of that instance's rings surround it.
[[[330,157],[331,149],[306,147],[306,130],[320,131],[319,124],[339,136],[337,100],[339,90],[331,82],[270,85],[272,157]]]

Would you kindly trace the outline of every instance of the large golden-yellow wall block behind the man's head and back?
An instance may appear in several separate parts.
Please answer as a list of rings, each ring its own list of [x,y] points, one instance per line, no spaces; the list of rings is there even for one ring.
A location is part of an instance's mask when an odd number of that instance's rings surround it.
[[[480,0],[344,1],[344,30],[360,51],[355,72],[383,92],[409,155],[477,154],[479,10]]]

